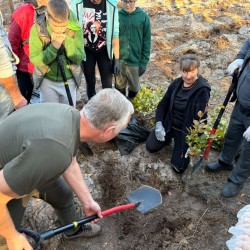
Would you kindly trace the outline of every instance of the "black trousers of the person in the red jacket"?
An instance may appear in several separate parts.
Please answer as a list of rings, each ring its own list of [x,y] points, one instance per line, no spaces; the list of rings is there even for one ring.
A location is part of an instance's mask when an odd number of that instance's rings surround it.
[[[33,91],[33,82],[31,78],[31,74],[28,72],[23,72],[20,70],[16,71],[18,87],[22,96],[30,102],[32,91]]]

